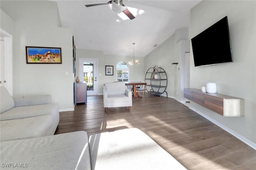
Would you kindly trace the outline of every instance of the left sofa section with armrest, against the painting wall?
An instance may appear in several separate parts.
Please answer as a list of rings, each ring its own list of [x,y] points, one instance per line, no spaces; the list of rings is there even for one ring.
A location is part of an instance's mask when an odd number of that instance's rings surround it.
[[[0,141],[53,135],[59,106],[50,95],[11,96],[0,87]]]

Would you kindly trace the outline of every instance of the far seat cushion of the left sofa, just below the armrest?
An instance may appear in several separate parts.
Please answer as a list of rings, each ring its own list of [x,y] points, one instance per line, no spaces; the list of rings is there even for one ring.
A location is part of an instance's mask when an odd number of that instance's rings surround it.
[[[59,114],[59,106],[57,103],[20,106],[2,113],[0,120],[22,119],[46,114],[52,115],[52,119],[55,120],[56,113]]]

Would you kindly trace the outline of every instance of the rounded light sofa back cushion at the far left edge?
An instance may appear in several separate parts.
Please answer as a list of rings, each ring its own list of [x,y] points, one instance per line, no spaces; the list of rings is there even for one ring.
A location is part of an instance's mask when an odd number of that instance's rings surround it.
[[[14,100],[5,87],[1,86],[0,88],[0,113],[2,113],[14,107]]]

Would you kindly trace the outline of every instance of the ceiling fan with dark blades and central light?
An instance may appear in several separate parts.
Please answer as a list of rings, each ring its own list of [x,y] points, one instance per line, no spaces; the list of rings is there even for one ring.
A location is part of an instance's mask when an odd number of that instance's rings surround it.
[[[86,7],[91,7],[91,6],[98,6],[98,5],[107,5],[111,4],[112,5],[112,10],[115,12],[123,12],[130,18],[130,20],[134,19],[135,16],[132,15],[132,13],[127,9],[127,6],[123,4],[123,0],[110,0],[109,2],[105,4],[90,4],[90,5],[85,5]]]

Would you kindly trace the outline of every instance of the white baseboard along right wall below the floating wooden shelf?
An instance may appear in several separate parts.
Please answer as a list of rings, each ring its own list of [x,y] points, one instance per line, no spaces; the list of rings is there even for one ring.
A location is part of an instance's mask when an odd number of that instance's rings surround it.
[[[212,123],[216,124],[217,126],[219,126],[220,128],[222,128],[223,130],[226,130],[228,133],[232,134],[233,136],[235,136],[236,138],[238,138],[239,140],[241,140],[242,142],[244,142],[245,144],[247,144],[248,146],[252,147],[254,150],[256,150],[256,144],[251,142],[250,140],[244,138],[243,136],[241,136],[240,134],[234,132],[233,130],[231,130],[230,128],[227,128],[226,126],[224,126],[223,124],[220,124],[219,122],[213,120],[212,118],[210,118],[209,116],[206,116],[205,114],[203,114],[202,112],[196,110],[193,107],[189,107],[191,110],[195,111],[196,113],[200,114],[201,116],[203,116],[204,118],[206,118],[207,120],[211,121]]]

